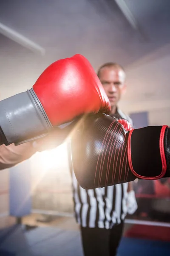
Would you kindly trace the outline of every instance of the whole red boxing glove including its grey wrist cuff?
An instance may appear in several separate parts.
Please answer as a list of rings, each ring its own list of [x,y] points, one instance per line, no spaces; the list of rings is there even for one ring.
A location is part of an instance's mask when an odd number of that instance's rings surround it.
[[[31,90],[0,102],[0,143],[24,143],[83,114],[110,110],[93,67],[77,54],[51,64]]]

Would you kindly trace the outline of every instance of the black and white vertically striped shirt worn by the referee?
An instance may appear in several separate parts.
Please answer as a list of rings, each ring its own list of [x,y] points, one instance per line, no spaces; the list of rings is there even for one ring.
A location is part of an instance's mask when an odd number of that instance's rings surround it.
[[[118,114],[132,123],[129,116],[118,110]],[[110,229],[121,223],[127,214],[128,183],[117,184],[97,189],[83,189],[79,186],[73,172],[71,154],[69,166],[72,175],[74,212],[77,222],[82,227]]]

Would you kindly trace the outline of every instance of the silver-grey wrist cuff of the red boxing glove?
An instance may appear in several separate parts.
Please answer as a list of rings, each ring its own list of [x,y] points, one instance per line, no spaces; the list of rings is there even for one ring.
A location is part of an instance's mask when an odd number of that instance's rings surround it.
[[[42,137],[52,125],[31,89],[0,101],[0,127],[8,144],[18,145]]]

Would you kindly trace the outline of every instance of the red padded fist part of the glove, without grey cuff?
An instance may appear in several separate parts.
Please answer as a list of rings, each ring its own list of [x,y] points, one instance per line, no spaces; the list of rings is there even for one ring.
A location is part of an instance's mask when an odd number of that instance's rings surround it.
[[[33,90],[52,125],[69,122],[84,113],[109,113],[110,102],[90,62],[82,55],[51,64]]]

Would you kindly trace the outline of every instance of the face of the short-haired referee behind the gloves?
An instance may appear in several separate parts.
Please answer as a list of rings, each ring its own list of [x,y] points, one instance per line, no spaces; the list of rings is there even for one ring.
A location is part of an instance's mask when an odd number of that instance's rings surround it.
[[[100,71],[99,79],[111,102],[111,106],[116,106],[125,91],[125,72],[119,67],[103,67]]]

